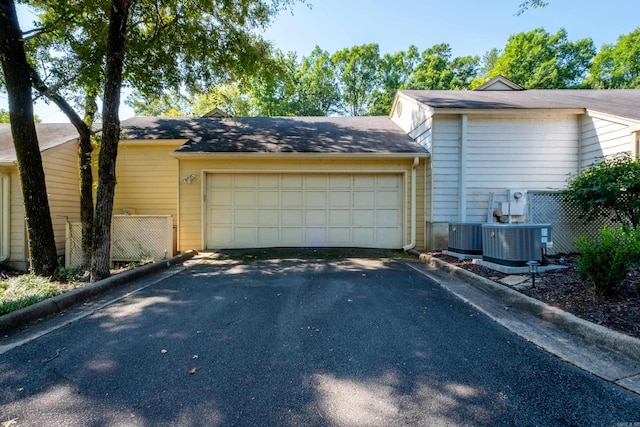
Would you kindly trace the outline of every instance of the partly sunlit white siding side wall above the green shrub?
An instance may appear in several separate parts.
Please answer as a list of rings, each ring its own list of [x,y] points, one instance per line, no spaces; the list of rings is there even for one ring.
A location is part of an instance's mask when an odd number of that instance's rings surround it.
[[[580,141],[581,169],[603,157],[630,152],[632,147],[632,136],[627,124],[592,115],[585,115],[580,119]]]

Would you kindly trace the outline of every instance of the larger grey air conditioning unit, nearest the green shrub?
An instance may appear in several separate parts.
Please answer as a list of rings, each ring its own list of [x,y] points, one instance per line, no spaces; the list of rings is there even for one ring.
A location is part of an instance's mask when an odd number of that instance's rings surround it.
[[[483,224],[482,260],[521,267],[543,260],[551,248],[551,224]]]

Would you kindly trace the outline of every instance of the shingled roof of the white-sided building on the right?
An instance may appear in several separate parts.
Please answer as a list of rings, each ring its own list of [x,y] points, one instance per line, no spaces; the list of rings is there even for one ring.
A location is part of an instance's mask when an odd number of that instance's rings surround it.
[[[640,89],[402,90],[435,109],[587,109],[640,120]]]

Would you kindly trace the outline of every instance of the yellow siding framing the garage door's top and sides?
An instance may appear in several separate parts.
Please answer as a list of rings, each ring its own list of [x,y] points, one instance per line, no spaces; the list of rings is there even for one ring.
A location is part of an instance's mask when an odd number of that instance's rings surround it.
[[[265,156],[261,159],[231,159],[221,156],[218,159],[180,159],[179,176],[185,177],[191,174],[196,179],[191,184],[179,183],[179,241],[178,250],[201,249],[203,244],[203,176],[206,172],[235,171],[235,172],[258,172],[258,171],[291,171],[291,172],[404,172],[410,184],[411,165],[413,158],[401,159],[274,159]],[[417,243],[424,245],[424,220],[422,217],[422,206],[424,205],[424,160],[417,169]],[[410,193],[405,194],[407,212],[407,229],[410,226],[411,198]],[[409,231],[407,232],[408,237]],[[407,240],[408,242],[409,240]]]

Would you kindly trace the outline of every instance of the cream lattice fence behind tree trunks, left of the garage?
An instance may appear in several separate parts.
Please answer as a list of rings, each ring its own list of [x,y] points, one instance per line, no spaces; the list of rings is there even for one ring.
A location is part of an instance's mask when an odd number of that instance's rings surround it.
[[[67,267],[81,262],[79,223],[69,224]],[[111,223],[111,261],[137,262],[173,256],[173,221],[167,215],[114,215]]]

